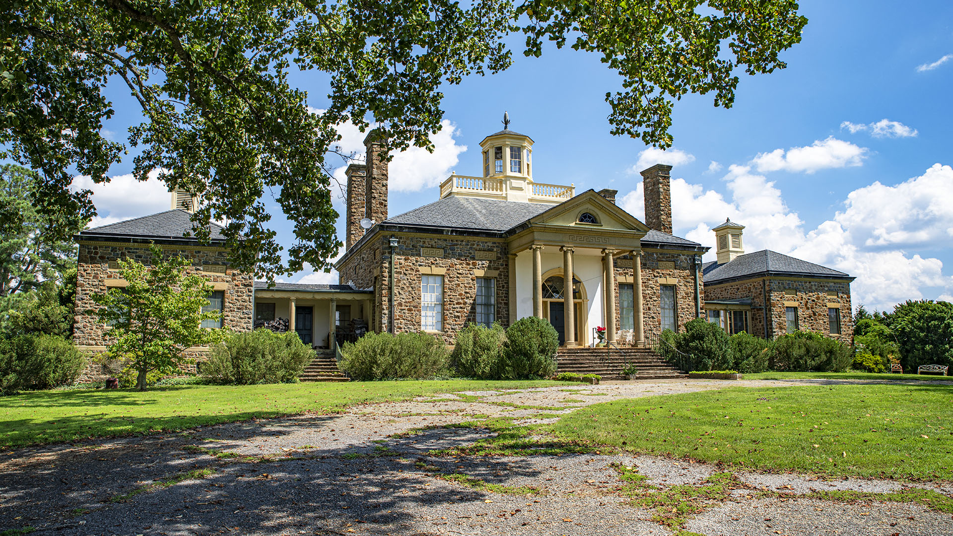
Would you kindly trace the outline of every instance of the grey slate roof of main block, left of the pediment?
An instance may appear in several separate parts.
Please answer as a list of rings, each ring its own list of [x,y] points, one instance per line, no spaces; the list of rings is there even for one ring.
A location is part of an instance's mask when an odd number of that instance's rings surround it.
[[[553,206],[543,203],[447,196],[400,216],[390,217],[384,223],[502,233],[533,216],[542,214]]]

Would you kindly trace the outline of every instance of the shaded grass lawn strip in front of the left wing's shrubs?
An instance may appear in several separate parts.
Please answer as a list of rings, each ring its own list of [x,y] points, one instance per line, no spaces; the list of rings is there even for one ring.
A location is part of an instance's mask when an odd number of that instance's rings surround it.
[[[0,397],[0,448],[68,442],[305,412],[335,413],[422,395],[562,385],[558,381],[350,381],[34,391]]]

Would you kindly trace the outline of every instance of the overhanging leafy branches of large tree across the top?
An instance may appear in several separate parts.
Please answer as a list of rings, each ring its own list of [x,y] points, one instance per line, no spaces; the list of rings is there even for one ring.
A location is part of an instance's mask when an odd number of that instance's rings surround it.
[[[705,14],[701,14],[703,11]],[[606,93],[613,134],[667,147],[674,100],[715,92],[728,108],[739,68],[785,67],[779,53],[807,20],[793,0],[38,0],[0,12],[0,157],[41,170],[43,214],[94,214],[75,173],[108,182],[141,147],[133,175],[154,170],[199,198],[194,233],[212,219],[239,268],[273,276],[329,265],[335,237],[328,158],[335,125],[372,122],[387,149],[432,149],[441,84],[510,66],[504,37],[596,52],[622,77]],[[308,108],[296,70],[326,75],[328,104]],[[109,139],[105,88],[125,86],[144,121],[127,144]],[[283,260],[263,196],[294,221]]]

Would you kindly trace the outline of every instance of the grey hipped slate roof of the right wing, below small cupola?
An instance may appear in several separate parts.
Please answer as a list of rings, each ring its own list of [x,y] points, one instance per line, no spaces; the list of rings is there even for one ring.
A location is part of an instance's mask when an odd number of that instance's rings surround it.
[[[771,250],[761,250],[741,255],[724,264],[706,262],[701,266],[701,271],[704,274],[702,280],[706,285],[731,279],[754,278],[765,275],[854,279],[843,272],[800,258],[781,255]]]

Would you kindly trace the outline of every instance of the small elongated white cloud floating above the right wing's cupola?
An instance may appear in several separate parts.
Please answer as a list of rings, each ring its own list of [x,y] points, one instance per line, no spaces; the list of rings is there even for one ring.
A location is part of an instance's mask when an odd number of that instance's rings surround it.
[[[792,147],[787,151],[776,149],[771,153],[760,153],[752,159],[752,164],[760,172],[787,171],[808,173],[849,166],[860,166],[867,150],[830,136],[817,140],[806,147]]]

